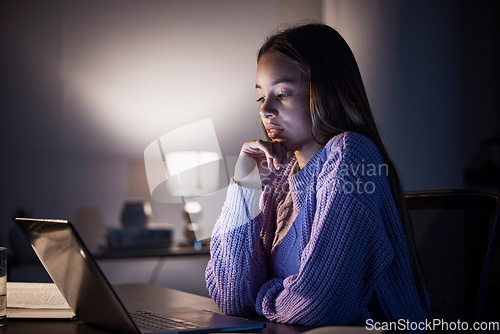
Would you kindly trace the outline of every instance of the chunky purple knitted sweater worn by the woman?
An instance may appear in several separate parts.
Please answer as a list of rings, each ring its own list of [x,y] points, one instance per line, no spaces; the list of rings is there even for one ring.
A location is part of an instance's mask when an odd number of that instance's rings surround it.
[[[294,164],[292,159],[263,191],[230,184],[206,269],[219,308],[309,326],[425,321],[386,168],[373,142],[346,132],[290,176]],[[290,252],[297,254],[298,273],[273,277],[270,253],[287,192],[301,212],[294,243],[299,250]]]

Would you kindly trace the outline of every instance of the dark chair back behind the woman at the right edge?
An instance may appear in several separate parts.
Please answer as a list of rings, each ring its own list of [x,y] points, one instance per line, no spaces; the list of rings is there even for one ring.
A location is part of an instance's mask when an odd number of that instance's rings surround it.
[[[500,212],[499,194],[469,190],[405,193],[433,317],[479,321]]]

